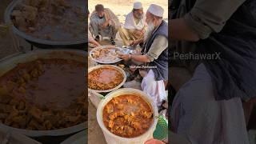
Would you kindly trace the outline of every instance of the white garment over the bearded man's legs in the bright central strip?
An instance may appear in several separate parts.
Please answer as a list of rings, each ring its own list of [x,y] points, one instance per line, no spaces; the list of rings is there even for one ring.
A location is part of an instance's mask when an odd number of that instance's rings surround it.
[[[150,70],[142,80],[142,90],[153,98],[157,106],[161,106],[162,102],[167,99],[165,87],[163,81],[155,80],[153,70]]]

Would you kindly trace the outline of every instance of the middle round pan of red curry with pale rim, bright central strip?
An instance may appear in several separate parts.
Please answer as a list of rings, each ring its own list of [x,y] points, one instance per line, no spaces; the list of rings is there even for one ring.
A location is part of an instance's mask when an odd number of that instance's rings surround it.
[[[88,88],[98,93],[117,90],[125,82],[126,72],[118,66],[100,65],[88,70]]]

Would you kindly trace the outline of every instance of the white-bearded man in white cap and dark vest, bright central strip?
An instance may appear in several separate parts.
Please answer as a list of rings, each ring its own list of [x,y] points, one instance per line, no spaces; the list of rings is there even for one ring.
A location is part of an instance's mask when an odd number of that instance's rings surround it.
[[[162,20],[164,10],[152,4],[146,12],[148,24],[144,36],[141,54],[120,54],[120,58],[128,61],[143,62],[146,74],[143,77],[142,90],[150,95],[157,106],[166,100],[164,81],[168,79],[168,24]]]

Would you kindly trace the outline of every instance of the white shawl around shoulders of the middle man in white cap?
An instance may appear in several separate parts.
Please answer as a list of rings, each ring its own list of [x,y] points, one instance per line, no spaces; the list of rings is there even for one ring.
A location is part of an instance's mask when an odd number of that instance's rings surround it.
[[[146,15],[143,14],[143,18],[136,24],[133,12],[126,15],[126,21],[124,24],[125,29],[130,30],[142,30],[146,23]]]

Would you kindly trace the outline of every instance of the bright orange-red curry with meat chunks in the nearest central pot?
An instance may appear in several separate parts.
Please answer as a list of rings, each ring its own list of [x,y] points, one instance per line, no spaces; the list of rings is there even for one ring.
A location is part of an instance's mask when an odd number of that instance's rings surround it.
[[[153,124],[153,110],[143,98],[125,94],[110,100],[103,108],[104,125],[111,133],[124,138],[144,134]]]

